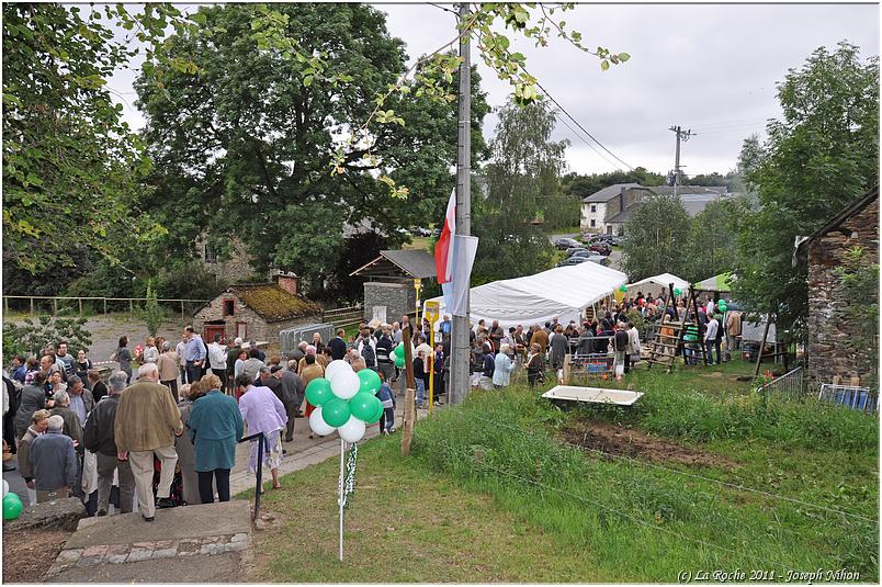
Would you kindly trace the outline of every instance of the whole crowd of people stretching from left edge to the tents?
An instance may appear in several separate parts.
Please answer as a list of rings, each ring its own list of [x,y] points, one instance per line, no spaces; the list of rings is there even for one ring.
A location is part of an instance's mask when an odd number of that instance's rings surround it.
[[[535,386],[549,371],[561,380],[567,354],[574,360],[611,358],[622,377],[641,360],[636,323],[655,323],[655,336],[670,337],[683,313],[692,326],[670,353],[691,364],[699,355],[715,364],[736,349],[739,312],[721,313],[710,296],[687,308],[680,297],[665,304],[638,293],[601,305],[581,324],[563,324],[554,316],[544,325],[506,331],[497,320],[489,326],[478,320],[470,330],[471,384],[505,388],[513,374],[523,373]],[[305,388],[324,376],[330,361],[378,373],[377,396],[385,408],[380,429],[394,432],[396,396],[404,395],[406,377],[393,351],[407,342],[408,327],[417,408],[430,400],[441,405],[451,370],[450,316],[442,317],[436,332],[428,320],[411,325],[408,316],[393,324],[362,324],[349,340],[343,329],[327,342],[316,332],[284,358],[268,357],[240,338],[226,346],[216,335],[206,345],[188,326],[179,341],[148,337],[133,350],[121,337],[112,355],[118,366],[105,377],[84,349],[75,358],[64,340],[48,345],[38,358],[15,357],[3,371],[4,443],[18,458],[32,505],[74,495],[90,515],[106,515],[111,503],[120,512],[137,504],[145,520],[152,520],[156,508],[228,500],[236,445],[245,433],[264,436],[263,462],[257,462],[252,442],[248,466],[252,472],[268,466],[279,487],[284,443],[293,441],[296,419],[315,409]]]

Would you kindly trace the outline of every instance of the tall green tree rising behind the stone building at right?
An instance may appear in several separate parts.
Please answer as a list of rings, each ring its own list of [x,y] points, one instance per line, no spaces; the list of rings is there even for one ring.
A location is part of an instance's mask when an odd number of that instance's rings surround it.
[[[735,295],[780,329],[807,316],[805,268],[791,266],[794,237],[810,235],[879,182],[879,59],[846,42],[816,49],[778,84],[783,118],[742,165],[761,208],[738,237]]]

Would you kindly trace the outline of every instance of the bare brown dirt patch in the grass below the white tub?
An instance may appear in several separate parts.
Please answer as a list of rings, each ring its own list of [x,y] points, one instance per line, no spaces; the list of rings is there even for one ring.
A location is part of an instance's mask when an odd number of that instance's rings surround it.
[[[566,442],[583,447],[593,456],[612,459],[629,456],[656,463],[679,463],[690,466],[734,466],[723,456],[685,447],[670,440],[651,437],[645,432],[607,422],[581,424],[562,432]],[[601,455],[597,451],[607,453]]]

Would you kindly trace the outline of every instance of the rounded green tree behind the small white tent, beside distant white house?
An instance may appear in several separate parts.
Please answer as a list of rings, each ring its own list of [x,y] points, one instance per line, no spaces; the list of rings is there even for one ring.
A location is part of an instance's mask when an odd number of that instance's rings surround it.
[[[690,221],[679,196],[648,195],[636,202],[624,234],[622,270],[632,282],[686,269]]]

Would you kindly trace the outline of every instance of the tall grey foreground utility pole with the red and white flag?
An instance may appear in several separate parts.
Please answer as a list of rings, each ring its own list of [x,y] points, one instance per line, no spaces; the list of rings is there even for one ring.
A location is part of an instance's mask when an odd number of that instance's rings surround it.
[[[460,23],[465,26],[470,15],[468,2],[460,3]],[[472,58],[471,33],[460,39],[460,122],[456,149],[456,235],[472,234]],[[465,284],[464,316],[453,316],[453,345],[451,355],[451,385],[448,390],[448,400],[455,405],[461,404],[468,393],[468,363],[471,349],[468,348],[468,309],[470,283]]]

